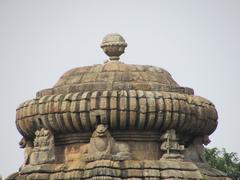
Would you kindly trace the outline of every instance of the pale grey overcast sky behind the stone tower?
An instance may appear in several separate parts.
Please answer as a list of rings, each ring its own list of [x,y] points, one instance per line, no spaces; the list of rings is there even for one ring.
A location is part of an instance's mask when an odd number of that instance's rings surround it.
[[[123,62],[162,67],[211,100],[209,147],[240,155],[239,0],[0,0],[0,174],[23,163],[16,107],[65,71],[103,63],[110,32],[128,43]]]

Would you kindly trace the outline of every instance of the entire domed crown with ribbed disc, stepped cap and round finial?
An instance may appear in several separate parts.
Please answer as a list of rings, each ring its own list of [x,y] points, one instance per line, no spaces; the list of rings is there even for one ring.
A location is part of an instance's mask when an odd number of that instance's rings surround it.
[[[162,68],[120,62],[127,44],[118,36],[103,40],[108,61],[66,72],[53,88],[19,106],[16,122],[24,136],[34,137],[42,127],[58,134],[91,133],[97,118],[114,132],[155,132],[147,135],[150,139],[167,129],[187,136],[215,130],[217,112],[210,101],[179,86]],[[124,138],[122,133],[118,136]]]

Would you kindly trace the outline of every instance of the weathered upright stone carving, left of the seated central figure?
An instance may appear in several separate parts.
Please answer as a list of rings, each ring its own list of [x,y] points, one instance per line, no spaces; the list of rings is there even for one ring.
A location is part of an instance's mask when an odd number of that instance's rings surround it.
[[[51,131],[42,128],[35,132],[34,148],[30,155],[30,165],[53,163],[55,161],[54,137]]]

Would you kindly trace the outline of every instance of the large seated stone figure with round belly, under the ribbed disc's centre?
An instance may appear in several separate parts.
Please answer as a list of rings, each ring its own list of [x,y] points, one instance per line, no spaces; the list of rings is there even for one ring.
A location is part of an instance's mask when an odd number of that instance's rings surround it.
[[[82,148],[82,161],[100,159],[127,160],[131,159],[130,149],[126,143],[119,143],[109,133],[107,126],[99,124],[93,132],[90,143]]]

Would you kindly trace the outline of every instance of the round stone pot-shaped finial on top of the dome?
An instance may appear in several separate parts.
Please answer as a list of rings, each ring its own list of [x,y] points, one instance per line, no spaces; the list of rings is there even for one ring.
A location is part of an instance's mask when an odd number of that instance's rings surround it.
[[[119,56],[124,53],[127,43],[117,33],[110,33],[103,38],[101,48],[109,56],[109,61],[118,61]]]

